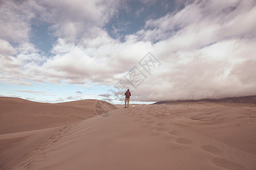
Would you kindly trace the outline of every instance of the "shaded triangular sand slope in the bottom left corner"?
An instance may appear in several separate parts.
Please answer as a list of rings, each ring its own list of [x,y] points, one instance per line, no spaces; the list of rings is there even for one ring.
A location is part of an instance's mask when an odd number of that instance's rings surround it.
[[[37,150],[51,142],[53,133],[59,128],[24,131],[0,135],[0,169],[13,169]]]

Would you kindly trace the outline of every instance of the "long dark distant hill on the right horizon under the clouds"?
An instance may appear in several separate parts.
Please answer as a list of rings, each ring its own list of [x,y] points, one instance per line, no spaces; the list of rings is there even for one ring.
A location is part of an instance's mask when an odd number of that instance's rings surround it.
[[[242,96],[242,97],[225,97],[221,99],[200,99],[200,100],[171,100],[171,101],[158,101],[154,104],[167,104],[167,103],[178,103],[178,102],[200,102],[208,101],[214,103],[253,103],[256,104],[255,96]]]

